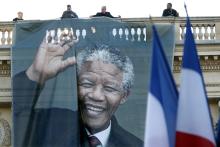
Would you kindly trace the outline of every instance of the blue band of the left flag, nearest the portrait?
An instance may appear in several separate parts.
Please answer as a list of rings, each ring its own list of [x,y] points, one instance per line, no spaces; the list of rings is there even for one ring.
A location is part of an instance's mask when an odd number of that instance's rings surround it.
[[[150,92],[158,99],[163,107],[170,147],[174,147],[178,91],[154,25],[150,83]]]

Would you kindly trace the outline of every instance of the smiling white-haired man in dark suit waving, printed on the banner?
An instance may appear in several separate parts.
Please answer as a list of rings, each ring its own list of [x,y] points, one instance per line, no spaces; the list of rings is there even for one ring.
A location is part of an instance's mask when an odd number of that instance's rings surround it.
[[[32,65],[13,79],[14,146],[141,147],[143,142],[117,123],[114,113],[133,84],[130,59],[108,46],[82,50],[63,59],[77,41],[44,40]],[[48,79],[77,63],[79,111],[35,108]],[[22,83],[22,85],[20,84]],[[90,141],[90,138],[98,138]]]

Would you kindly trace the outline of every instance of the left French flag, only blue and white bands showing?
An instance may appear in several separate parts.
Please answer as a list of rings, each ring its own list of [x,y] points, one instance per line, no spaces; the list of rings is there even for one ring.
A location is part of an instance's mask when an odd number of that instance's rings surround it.
[[[148,93],[145,147],[174,147],[178,91],[153,25],[153,53]]]

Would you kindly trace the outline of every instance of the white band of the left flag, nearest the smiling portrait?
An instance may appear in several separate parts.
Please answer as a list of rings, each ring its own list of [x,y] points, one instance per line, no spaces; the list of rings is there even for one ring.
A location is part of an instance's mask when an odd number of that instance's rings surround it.
[[[150,92],[148,94],[145,126],[145,147],[169,147],[163,108]]]

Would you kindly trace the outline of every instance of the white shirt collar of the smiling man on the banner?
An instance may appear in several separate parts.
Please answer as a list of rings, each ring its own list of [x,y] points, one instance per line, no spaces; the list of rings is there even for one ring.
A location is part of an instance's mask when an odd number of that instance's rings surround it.
[[[86,132],[87,132],[88,136],[97,137],[99,139],[99,141],[102,143],[103,147],[106,147],[106,145],[107,145],[108,138],[109,138],[109,135],[110,135],[110,131],[111,131],[111,121],[110,121],[110,124],[109,124],[108,128],[106,128],[105,130],[103,130],[101,132],[95,133],[93,135],[86,129]]]

